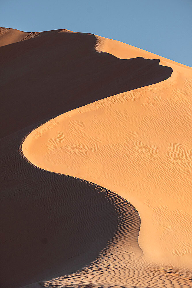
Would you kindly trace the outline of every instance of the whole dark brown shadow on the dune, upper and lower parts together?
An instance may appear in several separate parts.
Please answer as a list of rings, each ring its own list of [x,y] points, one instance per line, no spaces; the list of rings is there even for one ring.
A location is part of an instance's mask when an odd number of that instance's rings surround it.
[[[98,53],[95,43],[94,35],[52,33],[0,48],[3,288],[80,270],[118,233],[129,231],[140,249],[140,218],[126,200],[93,183],[36,168],[18,151],[39,121],[172,73],[159,60]],[[135,222],[129,223],[133,214]]]

